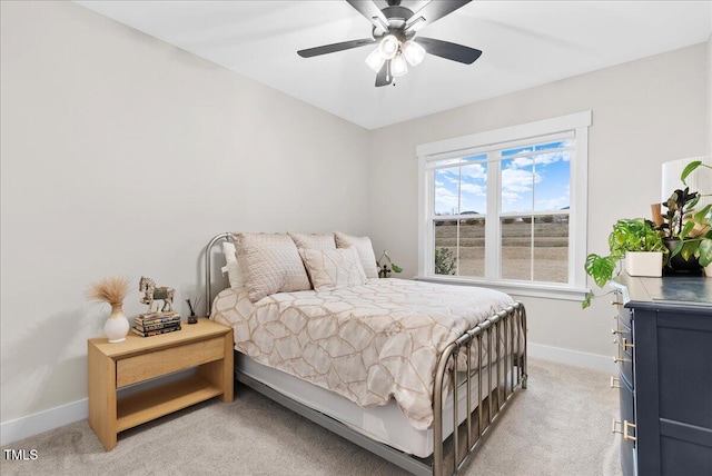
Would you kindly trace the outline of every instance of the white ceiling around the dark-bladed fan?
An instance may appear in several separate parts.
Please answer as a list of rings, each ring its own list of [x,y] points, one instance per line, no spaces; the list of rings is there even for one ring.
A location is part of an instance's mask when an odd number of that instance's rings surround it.
[[[428,54],[395,86],[376,88],[364,63],[372,47],[307,59],[296,53],[370,36],[368,20],[343,0],[77,3],[367,129],[700,43],[712,33],[712,1],[475,0],[421,33],[477,48],[477,61]]]

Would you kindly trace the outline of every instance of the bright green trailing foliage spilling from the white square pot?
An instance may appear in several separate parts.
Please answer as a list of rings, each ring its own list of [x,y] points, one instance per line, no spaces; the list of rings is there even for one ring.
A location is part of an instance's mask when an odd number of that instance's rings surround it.
[[[621,219],[613,225],[613,231],[609,235],[609,256],[591,254],[586,257],[584,269],[599,287],[604,287],[614,275],[620,272],[620,262],[625,258],[626,251],[662,251],[668,248],[651,220],[644,218]],[[591,306],[593,291],[589,292],[581,303],[581,307]]]

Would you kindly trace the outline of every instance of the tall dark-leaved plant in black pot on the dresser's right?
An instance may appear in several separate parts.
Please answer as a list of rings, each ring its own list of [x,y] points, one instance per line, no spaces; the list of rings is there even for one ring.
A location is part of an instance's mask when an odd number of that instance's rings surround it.
[[[712,167],[701,160],[690,162],[682,171],[680,179],[685,180],[699,167]],[[663,204],[668,212],[659,229],[663,230],[663,241],[670,250],[668,266],[675,271],[696,271],[712,262],[712,227],[710,218],[712,205],[695,210],[701,197],[699,192],[690,192],[690,188],[675,190]]]

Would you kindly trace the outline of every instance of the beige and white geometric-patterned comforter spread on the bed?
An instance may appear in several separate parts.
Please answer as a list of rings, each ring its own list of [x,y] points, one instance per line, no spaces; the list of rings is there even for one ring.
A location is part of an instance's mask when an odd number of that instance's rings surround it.
[[[395,398],[411,425],[426,429],[433,422],[437,356],[513,303],[485,288],[369,279],[330,291],[278,292],[257,303],[245,289],[226,289],[210,318],[231,326],[235,349],[254,360],[363,407]]]

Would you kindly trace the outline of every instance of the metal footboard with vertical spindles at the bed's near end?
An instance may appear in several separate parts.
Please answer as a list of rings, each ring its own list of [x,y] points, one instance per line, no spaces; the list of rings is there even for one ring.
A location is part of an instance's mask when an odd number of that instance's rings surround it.
[[[494,336],[493,336],[494,334]],[[486,360],[483,360],[483,343],[486,341]],[[494,343],[494,348],[493,348]],[[503,344],[504,343],[504,344]],[[472,368],[473,347],[477,353],[477,368]],[[504,348],[503,348],[504,347]],[[459,424],[458,415],[458,356],[465,353],[465,391],[467,415]],[[493,359],[494,357],[494,359]],[[486,364],[484,364],[486,363]],[[495,367],[493,383],[492,367]],[[486,387],[483,393],[483,374],[486,370]],[[508,373],[507,373],[508,370]],[[507,383],[508,374],[508,383]],[[443,442],[443,386],[449,375],[453,388],[452,466],[446,460]],[[473,377],[477,378],[477,407],[472,408]],[[517,388],[526,388],[526,311],[522,303],[501,310],[463,334],[445,348],[438,358],[433,388],[433,475],[457,474],[469,456],[484,440],[501,411]],[[486,411],[486,415],[485,415]],[[475,420],[476,414],[476,420]],[[476,424],[476,425],[475,425]],[[476,430],[475,430],[476,428]],[[464,442],[461,442],[461,438]],[[446,470],[452,468],[452,470]]]

